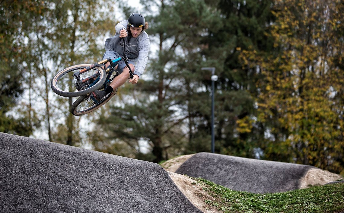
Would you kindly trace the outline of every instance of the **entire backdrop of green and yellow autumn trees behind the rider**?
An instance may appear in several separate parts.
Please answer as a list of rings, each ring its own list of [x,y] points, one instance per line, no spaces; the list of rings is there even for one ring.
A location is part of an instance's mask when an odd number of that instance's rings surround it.
[[[210,151],[212,82],[201,67],[215,67],[217,153],[343,174],[342,1],[142,0],[157,52],[139,84],[75,118],[50,79],[100,60],[116,20],[99,8],[115,3],[1,1],[0,131],[47,129],[49,140],[154,162]],[[81,132],[85,121],[104,131]]]

